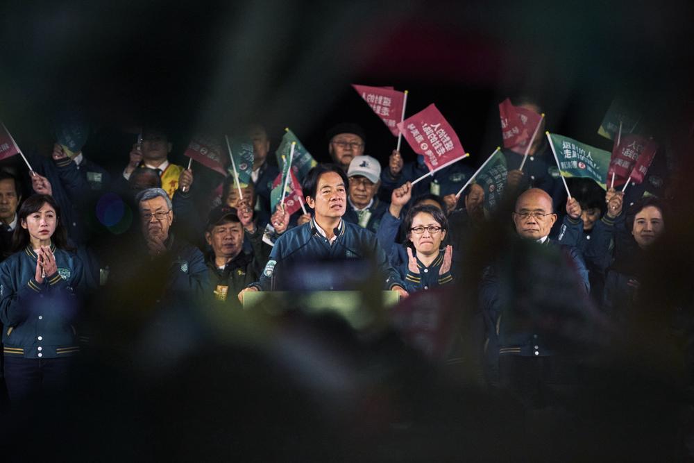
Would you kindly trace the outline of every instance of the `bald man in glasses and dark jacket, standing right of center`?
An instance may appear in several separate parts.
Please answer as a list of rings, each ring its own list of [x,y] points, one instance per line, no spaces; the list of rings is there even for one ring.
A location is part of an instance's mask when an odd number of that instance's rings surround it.
[[[505,244],[480,288],[487,360],[502,387],[542,407],[557,399],[555,387],[575,386],[575,357],[560,354],[572,347],[566,326],[591,319],[588,271],[577,249],[549,238],[557,214],[547,192],[523,192],[512,216],[521,241]]]

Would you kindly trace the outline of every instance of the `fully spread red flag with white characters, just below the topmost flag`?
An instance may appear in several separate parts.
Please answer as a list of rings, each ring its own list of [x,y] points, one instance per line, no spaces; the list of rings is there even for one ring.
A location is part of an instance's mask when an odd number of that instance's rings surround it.
[[[409,146],[424,156],[430,171],[466,156],[458,135],[433,104],[400,122],[398,128]]]

